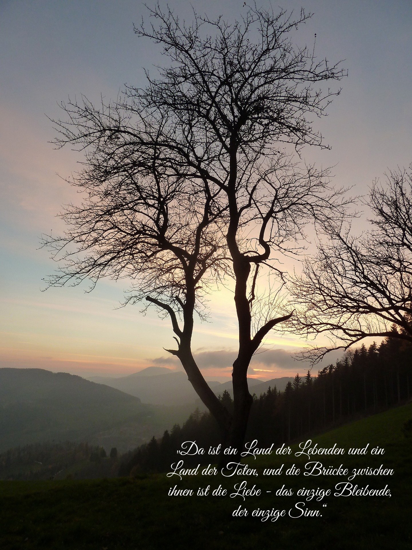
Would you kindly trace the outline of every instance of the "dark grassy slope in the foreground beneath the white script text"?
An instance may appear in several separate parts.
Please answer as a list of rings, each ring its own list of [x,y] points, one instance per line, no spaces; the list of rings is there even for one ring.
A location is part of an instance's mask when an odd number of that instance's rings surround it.
[[[370,416],[314,441],[320,447],[365,447],[380,445],[383,456],[318,456],[324,466],[343,463],[350,467],[393,468],[394,476],[358,476],[359,487],[391,488],[392,497],[325,497],[321,502],[305,502],[305,509],[319,510],[318,517],[260,521],[252,510],[294,509],[301,487],[335,487],[339,477],[263,476],[264,467],[293,463],[304,468],[302,458],[272,454],[249,460],[258,477],[222,478],[196,476],[183,481],[164,475],[142,479],[119,478],[93,481],[0,482],[0,548],[5,549],[154,549],[154,548],[280,548],[280,549],[394,549],[412,548],[411,527],[411,438],[402,433],[403,423],[412,417],[412,405]],[[293,452],[296,450],[293,447]],[[242,460],[244,462],[244,460]],[[211,485],[233,492],[242,480],[247,486],[263,489],[259,497],[198,497],[198,487]],[[192,487],[191,497],[169,497],[170,487]],[[294,494],[276,497],[285,485]],[[271,491],[270,493],[266,491]],[[326,507],[323,504],[327,504]],[[232,516],[240,505],[249,510],[245,518]],[[297,515],[298,511],[293,511]]]

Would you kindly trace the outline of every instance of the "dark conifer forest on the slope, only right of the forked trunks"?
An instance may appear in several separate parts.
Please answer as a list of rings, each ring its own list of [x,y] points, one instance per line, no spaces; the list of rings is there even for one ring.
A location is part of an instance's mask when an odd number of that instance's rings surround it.
[[[362,345],[318,376],[296,375],[285,392],[276,388],[254,401],[248,436],[283,443],[355,415],[387,409],[410,398],[412,346],[387,338]]]

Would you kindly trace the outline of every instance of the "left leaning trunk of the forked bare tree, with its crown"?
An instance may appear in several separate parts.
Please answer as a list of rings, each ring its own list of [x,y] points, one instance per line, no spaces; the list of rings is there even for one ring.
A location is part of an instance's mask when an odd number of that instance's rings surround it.
[[[146,147],[130,139],[127,127],[113,131],[121,124],[119,111],[103,107],[99,112],[87,100],[65,109],[79,131],[76,141],[84,140],[88,151],[86,167],[68,180],[82,191],[82,204],[69,205],[60,214],[68,226],[64,237],[44,239],[60,263],[49,285],[88,279],[92,290],[102,277],[131,279],[125,304],[146,299],[144,309],[153,304],[170,317],[179,349],[167,351],[179,357],[203,403],[222,430],[229,430],[229,414],[191,352],[194,313],[204,316],[205,294],[228,271],[220,190],[179,169],[165,173],[157,162],[158,135],[147,147],[153,156],[149,166]],[[91,122],[96,127],[87,135]]]

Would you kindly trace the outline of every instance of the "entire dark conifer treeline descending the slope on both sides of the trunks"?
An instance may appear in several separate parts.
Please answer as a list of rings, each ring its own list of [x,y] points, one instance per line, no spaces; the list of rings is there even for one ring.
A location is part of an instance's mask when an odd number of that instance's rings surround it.
[[[392,331],[396,331],[393,328]],[[254,395],[246,441],[258,439],[259,446],[281,444],[351,417],[385,410],[409,400],[412,382],[412,345],[399,338],[386,338],[380,345],[349,351],[335,365],[296,375],[285,391],[269,388],[259,397]],[[230,410],[228,392],[220,396]],[[208,412],[195,411],[182,427],[175,425],[161,439],[142,445],[123,455],[119,475],[162,472],[183,457],[176,450],[185,441],[196,441],[204,455],[185,456],[185,466],[216,463],[209,447],[219,444],[218,425]]]

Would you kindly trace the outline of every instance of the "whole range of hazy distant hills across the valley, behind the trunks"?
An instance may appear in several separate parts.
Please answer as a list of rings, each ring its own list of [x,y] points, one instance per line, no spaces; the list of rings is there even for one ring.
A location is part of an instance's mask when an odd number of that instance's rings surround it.
[[[232,393],[231,381],[209,384],[218,395]],[[249,384],[252,391],[269,386]],[[0,368],[0,452],[53,440],[126,452],[184,422],[196,407],[205,410],[185,373],[164,367],[93,382],[40,368]]]

